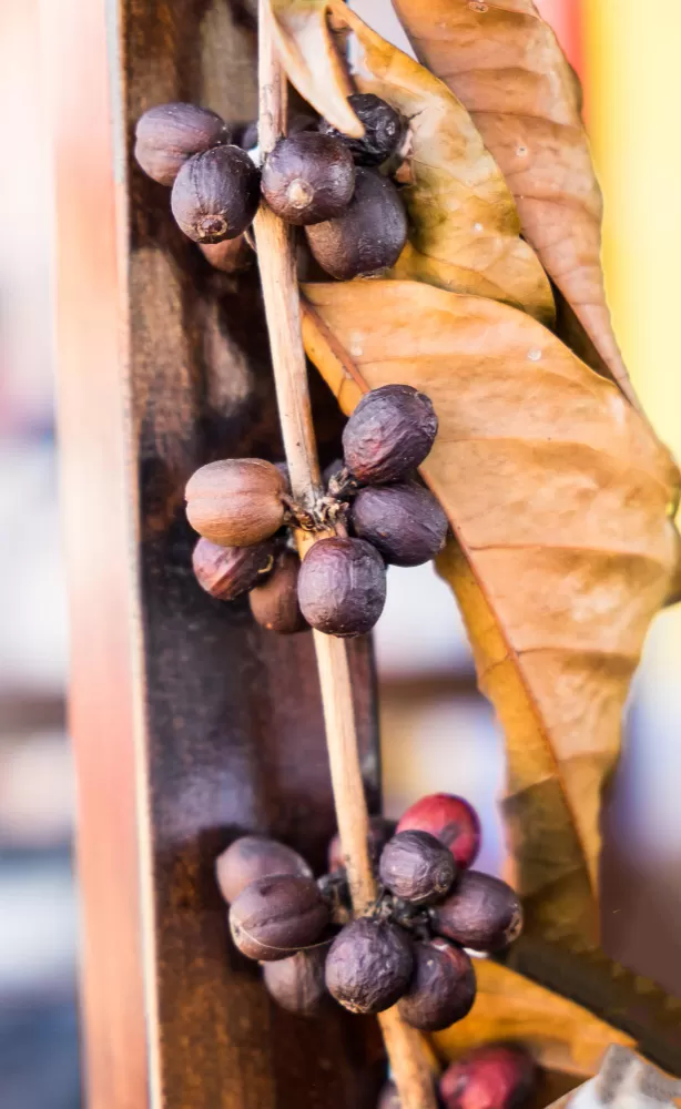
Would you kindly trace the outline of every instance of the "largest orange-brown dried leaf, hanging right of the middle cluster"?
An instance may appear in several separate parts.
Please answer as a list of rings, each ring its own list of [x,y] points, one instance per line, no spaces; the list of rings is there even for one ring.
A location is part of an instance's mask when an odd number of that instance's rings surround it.
[[[435,405],[423,472],[457,540],[440,571],[506,733],[528,933],[586,948],[601,788],[674,564],[675,467],[618,389],[525,313],[414,282],[305,295],[308,355],[346,411],[387,383]]]

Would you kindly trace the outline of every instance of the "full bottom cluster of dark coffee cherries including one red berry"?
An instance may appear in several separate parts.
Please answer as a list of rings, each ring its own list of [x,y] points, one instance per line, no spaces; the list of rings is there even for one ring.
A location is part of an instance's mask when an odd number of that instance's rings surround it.
[[[289,1011],[313,1015],[331,995],[352,1013],[399,1004],[414,1028],[448,1028],[475,1000],[469,952],[498,952],[521,928],[510,886],[469,868],[479,844],[475,810],[451,794],[423,797],[397,825],[373,817],[379,895],[354,918],[337,837],[329,874],[315,881],[291,847],[244,836],[216,867],[232,938]]]

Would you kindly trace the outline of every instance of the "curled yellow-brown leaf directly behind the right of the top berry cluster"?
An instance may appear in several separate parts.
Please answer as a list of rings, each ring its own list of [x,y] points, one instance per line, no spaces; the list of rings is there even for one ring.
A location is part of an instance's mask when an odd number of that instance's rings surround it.
[[[550,283],[520,238],[511,193],[466,109],[443,81],[352,11],[343,18],[359,48],[357,88],[410,120],[410,183],[402,190],[409,244],[392,276],[494,297],[552,324]]]

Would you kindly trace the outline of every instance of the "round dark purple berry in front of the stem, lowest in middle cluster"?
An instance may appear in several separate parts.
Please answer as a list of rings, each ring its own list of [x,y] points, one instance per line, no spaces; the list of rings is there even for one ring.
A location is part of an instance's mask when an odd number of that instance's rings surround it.
[[[385,563],[363,539],[321,539],[303,559],[301,611],[311,627],[327,635],[370,631],[385,599]]]

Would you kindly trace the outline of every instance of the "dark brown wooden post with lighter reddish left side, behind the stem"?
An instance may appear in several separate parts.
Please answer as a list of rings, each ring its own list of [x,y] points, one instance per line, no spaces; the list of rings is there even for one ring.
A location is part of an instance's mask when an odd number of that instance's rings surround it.
[[[245,830],[321,867],[335,826],[309,634],[263,632],[245,602],[211,600],[190,571],[192,470],[281,457],[257,276],[213,272],[173,226],[167,190],[128,153],[154,103],[253,115],[253,27],[222,0],[44,8],[87,1102],[368,1109],[382,1068],[374,1022],[276,1010],[230,948],[213,877]],[[323,387],[316,400],[327,461],[337,416]],[[375,804],[366,643],[353,668]]]

